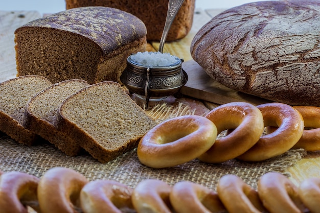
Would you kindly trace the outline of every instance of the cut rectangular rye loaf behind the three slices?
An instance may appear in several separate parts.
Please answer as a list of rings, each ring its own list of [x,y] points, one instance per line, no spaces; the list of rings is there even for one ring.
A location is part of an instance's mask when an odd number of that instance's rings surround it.
[[[82,7],[36,19],[15,31],[17,76],[120,82],[127,57],[145,51],[146,34],[139,18],[115,8]]]

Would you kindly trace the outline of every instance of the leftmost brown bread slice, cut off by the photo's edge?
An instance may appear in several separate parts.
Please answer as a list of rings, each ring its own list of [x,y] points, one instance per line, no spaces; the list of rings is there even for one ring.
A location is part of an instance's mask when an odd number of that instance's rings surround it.
[[[29,99],[52,83],[42,76],[21,76],[0,84],[0,131],[20,144],[32,145],[38,137],[22,126]]]

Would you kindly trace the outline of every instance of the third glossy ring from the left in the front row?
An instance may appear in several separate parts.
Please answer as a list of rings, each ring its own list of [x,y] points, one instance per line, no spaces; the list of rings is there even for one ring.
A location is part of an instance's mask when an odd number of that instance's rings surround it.
[[[80,203],[84,213],[121,213],[132,209],[132,189],[113,180],[94,180],[83,186]]]

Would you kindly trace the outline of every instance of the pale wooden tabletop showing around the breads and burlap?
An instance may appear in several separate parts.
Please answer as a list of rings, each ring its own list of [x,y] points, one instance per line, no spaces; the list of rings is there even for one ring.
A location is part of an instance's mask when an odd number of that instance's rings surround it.
[[[190,43],[197,31],[212,17],[222,12],[220,9],[196,10],[191,32],[184,38],[164,45],[164,52],[168,52],[185,62],[191,61]],[[33,19],[41,17],[36,11],[0,11],[0,82],[16,76],[14,30]],[[148,51],[158,50],[159,43],[148,44]],[[288,169],[290,179],[299,184],[309,177],[320,177],[320,153],[308,153],[296,165]]]

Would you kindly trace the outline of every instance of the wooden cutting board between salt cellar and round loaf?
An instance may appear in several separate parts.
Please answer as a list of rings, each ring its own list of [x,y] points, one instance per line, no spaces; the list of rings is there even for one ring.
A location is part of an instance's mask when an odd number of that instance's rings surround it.
[[[248,102],[254,105],[259,105],[270,102],[220,84],[208,76],[204,69],[194,60],[182,63],[182,68],[188,74],[189,79],[186,85],[181,88],[180,92],[187,96],[216,104]]]

